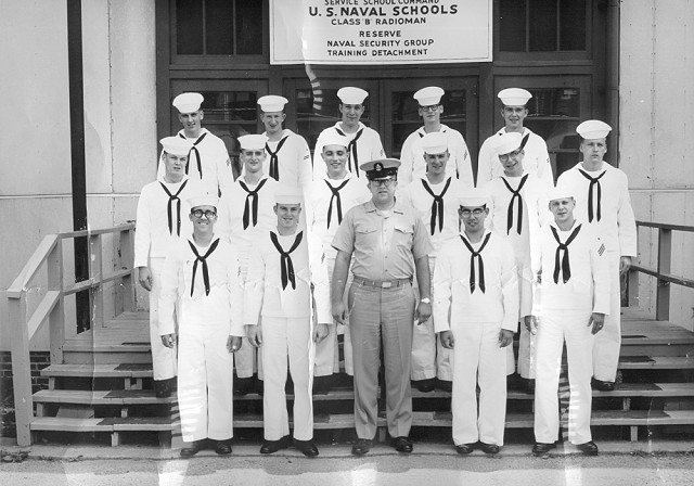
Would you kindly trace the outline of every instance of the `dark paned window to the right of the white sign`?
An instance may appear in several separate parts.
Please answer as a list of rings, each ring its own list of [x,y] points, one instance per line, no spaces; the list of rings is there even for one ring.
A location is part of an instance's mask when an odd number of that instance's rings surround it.
[[[587,51],[586,0],[499,0],[499,51]]]

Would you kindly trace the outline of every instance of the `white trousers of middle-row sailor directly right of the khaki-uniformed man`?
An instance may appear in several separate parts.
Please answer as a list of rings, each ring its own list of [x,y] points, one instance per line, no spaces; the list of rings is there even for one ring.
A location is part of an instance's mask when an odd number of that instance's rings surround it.
[[[429,274],[434,279],[434,265],[436,257],[429,256]],[[413,282],[416,299],[420,299],[420,289],[416,280]],[[432,291],[432,300],[434,300],[434,289]],[[441,346],[434,332],[434,318],[430,317],[422,324],[414,323],[412,332],[412,380],[429,380],[438,378],[439,380],[453,380],[453,351]]]

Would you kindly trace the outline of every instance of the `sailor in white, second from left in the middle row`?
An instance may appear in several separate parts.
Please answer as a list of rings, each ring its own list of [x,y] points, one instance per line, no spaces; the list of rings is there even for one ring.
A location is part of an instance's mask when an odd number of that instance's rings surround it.
[[[267,159],[264,135],[239,137],[239,157],[243,174],[228,188],[219,201],[217,233],[229,240],[239,253],[242,280],[246,280],[248,255],[260,234],[268,233],[277,226],[274,196],[279,182],[264,172]],[[246,341],[235,356],[235,391],[241,395],[259,391],[260,384],[254,374],[261,375],[257,364],[257,351]],[[260,376],[261,378],[261,376]]]

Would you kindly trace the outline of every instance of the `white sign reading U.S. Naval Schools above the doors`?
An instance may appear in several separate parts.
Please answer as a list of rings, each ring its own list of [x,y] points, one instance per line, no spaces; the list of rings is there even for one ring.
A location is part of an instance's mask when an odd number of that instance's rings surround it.
[[[270,0],[271,64],[491,61],[492,0]]]

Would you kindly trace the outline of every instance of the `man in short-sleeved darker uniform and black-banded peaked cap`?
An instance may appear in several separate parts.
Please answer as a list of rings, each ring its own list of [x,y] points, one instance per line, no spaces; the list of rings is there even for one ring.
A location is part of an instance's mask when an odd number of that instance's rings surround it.
[[[332,282],[333,318],[349,322],[355,362],[355,425],[358,440],[352,453],[371,449],[376,434],[381,337],[385,360],[386,417],[393,447],[411,452],[412,425],[410,368],[416,269],[420,323],[432,315],[428,253],[433,246],[414,209],[395,200],[400,161],[376,159],[363,164],[371,201],[352,207],[333,240],[337,250]],[[342,298],[352,254],[354,282],[348,306]],[[350,312],[348,318],[348,312]],[[348,320],[349,319],[349,320]]]

